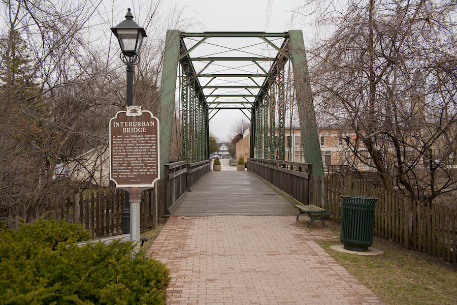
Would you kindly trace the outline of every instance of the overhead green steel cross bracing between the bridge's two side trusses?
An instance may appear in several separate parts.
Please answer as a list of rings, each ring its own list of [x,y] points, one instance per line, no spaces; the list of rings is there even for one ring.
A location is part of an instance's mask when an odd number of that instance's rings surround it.
[[[195,71],[211,114],[219,109],[250,111],[280,57],[288,33],[181,33],[181,65]]]

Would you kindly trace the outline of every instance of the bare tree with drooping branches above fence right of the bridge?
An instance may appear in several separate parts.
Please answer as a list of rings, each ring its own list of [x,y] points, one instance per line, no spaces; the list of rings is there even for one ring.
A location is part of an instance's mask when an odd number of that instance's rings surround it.
[[[449,165],[457,115],[455,5],[309,1],[298,11],[311,12],[330,31],[310,59],[324,125],[356,134],[348,159],[376,170],[385,189],[424,202],[457,190]]]

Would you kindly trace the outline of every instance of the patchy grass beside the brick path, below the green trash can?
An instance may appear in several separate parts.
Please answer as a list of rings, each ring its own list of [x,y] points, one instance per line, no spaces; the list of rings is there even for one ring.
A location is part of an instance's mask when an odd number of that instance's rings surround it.
[[[339,241],[319,241],[327,253],[387,304],[457,304],[457,266],[374,238],[378,256],[330,249]]]

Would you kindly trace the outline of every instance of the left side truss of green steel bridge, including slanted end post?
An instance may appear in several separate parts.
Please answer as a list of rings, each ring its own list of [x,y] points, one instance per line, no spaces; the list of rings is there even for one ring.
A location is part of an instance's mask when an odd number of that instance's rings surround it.
[[[160,85],[160,167],[170,162],[170,145],[173,129],[175,92],[178,65],[181,65],[181,154],[188,162],[202,161],[209,157],[208,105],[193,68],[189,51],[182,40],[182,32],[167,31],[164,66]],[[161,177],[164,175],[161,170]]]

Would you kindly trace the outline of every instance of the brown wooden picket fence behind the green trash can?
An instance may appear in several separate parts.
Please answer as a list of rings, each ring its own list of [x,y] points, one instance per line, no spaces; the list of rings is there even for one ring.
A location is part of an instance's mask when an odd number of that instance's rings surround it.
[[[330,212],[341,223],[341,195],[378,198],[375,207],[375,236],[396,241],[408,249],[422,251],[449,262],[457,262],[457,210],[440,204],[414,204],[410,198],[388,192],[352,175],[314,175],[310,203]]]

